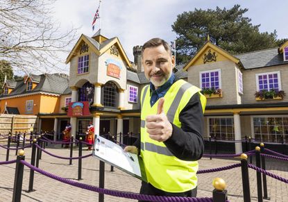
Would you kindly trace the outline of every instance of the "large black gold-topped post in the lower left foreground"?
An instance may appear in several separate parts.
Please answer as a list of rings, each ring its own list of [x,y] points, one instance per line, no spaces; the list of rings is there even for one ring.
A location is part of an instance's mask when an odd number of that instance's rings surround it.
[[[24,150],[20,150],[17,155],[12,202],[21,201],[24,165],[20,160],[25,160]]]

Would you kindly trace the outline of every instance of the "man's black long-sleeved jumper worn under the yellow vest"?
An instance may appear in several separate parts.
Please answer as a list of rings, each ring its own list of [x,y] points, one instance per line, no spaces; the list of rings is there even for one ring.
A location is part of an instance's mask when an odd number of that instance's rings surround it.
[[[173,83],[177,80],[178,78],[174,78]],[[165,87],[165,90],[167,92],[167,87]],[[158,94],[161,94],[161,92]],[[202,136],[203,110],[200,95],[198,93],[192,96],[185,108],[180,112],[179,120],[181,122],[181,128],[178,128],[171,123],[173,127],[172,135],[163,143],[167,146],[169,151],[180,160],[200,159],[204,151],[204,141]],[[140,148],[140,143],[141,140],[139,137],[133,145]]]

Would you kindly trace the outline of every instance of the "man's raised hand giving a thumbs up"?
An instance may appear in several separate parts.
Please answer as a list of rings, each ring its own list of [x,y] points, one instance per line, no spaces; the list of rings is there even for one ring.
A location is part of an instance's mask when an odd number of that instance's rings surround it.
[[[164,142],[172,135],[172,125],[164,113],[164,98],[158,102],[157,114],[146,117],[146,131],[149,137],[158,142]]]

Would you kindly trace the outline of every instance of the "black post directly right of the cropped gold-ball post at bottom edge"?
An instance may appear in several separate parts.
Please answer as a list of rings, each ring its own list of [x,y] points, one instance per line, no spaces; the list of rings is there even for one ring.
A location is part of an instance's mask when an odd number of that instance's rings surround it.
[[[246,153],[242,153],[241,155],[241,172],[242,172],[242,187],[243,187],[244,202],[250,202],[251,195],[250,195],[248,162]]]

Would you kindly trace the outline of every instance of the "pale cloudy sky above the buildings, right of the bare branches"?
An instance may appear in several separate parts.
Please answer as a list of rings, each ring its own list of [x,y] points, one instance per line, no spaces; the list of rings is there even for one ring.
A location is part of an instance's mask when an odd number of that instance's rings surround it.
[[[288,38],[288,1],[280,0],[101,0],[101,35],[118,37],[126,55],[134,61],[133,47],[142,45],[153,37],[161,37],[167,42],[176,40],[171,25],[177,15],[195,8],[202,10],[232,8],[239,4],[248,8],[244,15],[252,19],[252,24],[261,24],[260,32],[277,31],[278,39]],[[78,27],[81,34],[92,36],[99,29],[99,20],[92,31],[92,20],[99,6],[99,0],[58,0],[54,6],[54,17],[60,22],[62,31]],[[71,49],[73,49],[73,45]],[[66,55],[61,56],[64,61]],[[69,64],[64,67],[69,74]]]

